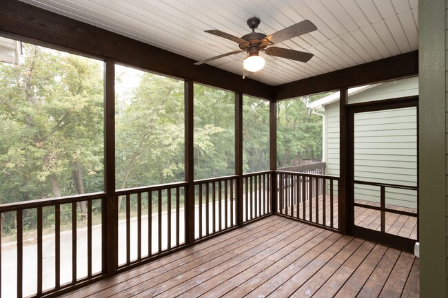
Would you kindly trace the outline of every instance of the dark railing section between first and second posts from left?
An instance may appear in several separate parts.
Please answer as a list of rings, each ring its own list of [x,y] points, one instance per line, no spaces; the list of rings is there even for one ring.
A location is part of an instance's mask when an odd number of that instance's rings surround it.
[[[186,186],[186,182],[178,182],[116,191],[120,266],[185,243]]]

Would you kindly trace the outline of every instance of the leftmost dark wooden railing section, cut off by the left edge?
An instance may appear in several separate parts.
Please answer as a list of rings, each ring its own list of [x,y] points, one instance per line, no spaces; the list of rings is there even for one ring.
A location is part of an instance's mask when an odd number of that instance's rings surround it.
[[[80,203],[86,206],[85,218],[80,218],[78,214],[77,204]],[[105,193],[2,204],[0,215],[16,218],[16,241],[2,245],[0,237],[1,297],[43,295],[101,275],[107,248],[101,245],[104,242],[104,225],[93,229],[93,206],[104,214]],[[45,220],[43,209],[50,214],[46,215]],[[63,209],[68,209],[68,214],[63,213]],[[63,215],[68,215],[64,216],[68,218],[62,220]],[[35,222],[25,228],[24,220],[30,216],[35,217]],[[54,218],[50,227],[47,217]],[[102,216],[99,217],[102,222]],[[29,241],[26,241],[26,236],[31,237]],[[17,270],[5,270],[14,258]],[[44,263],[44,259],[53,259],[54,263]]]

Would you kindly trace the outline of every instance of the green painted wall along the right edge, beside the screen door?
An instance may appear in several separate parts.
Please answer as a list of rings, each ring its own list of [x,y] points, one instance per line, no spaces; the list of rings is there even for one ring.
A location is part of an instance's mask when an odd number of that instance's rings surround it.
[[[420,297],[447,297],[447,5],[419,1]]]

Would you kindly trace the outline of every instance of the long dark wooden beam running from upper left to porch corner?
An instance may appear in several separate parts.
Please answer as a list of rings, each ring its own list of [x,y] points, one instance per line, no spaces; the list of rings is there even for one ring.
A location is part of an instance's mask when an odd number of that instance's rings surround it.
[[[0,34],[61,50],[141,67],[144,70],[193,80],[205,85],[271,100],[270,85],[210,65],[194,65],[193,59],[128,37],[76,21],[17,0],[0,6]],[[242,63],[243,61],[241,61]]]

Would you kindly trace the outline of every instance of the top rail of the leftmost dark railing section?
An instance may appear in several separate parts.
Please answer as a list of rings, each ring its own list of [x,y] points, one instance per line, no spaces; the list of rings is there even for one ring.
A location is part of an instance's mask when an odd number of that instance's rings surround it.
[[[19,209],[31,209],[37,207],[54,206],[56,204],[67,204],[72,202],[82,202],[85,200],[96,200],[105,198],[105,192],[87,193],[82,195],[68,195],[60,198],[38,199],[32,201],[12,202],[0,205],[0,213],[17,211]]]

